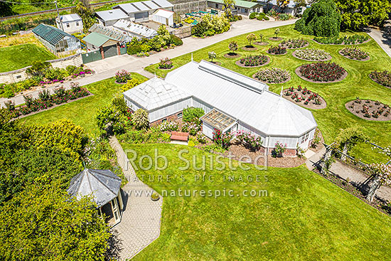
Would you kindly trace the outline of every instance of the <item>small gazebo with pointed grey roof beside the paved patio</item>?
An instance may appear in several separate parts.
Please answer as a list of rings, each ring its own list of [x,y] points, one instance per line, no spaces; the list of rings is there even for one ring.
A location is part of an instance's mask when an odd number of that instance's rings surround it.
[[[70,181],[68,193],[77,199],[92,196],[100,213],[105,213],[112,225],[121,221],[124,203],[121,179],[108,169],[85,169]]]

